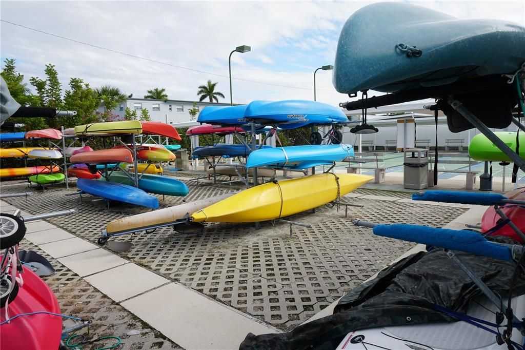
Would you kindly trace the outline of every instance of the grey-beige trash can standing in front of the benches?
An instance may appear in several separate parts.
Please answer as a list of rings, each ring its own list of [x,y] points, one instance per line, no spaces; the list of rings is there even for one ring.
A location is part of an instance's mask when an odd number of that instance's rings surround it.
[[[403,186],[421,190],[428,187],[428,150],[408,148],[404,152]]]

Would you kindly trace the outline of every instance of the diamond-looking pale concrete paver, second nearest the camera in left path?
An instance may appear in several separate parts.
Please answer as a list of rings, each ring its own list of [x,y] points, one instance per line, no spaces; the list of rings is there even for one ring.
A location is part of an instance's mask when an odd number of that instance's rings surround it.
[[[86,277],[92,286],[120,302],[171,282],[135,264],[125,264]]]

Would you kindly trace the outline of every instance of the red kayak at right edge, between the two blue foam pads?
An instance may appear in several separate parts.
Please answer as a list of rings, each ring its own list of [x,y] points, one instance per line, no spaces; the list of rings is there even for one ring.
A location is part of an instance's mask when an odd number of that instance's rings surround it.
[[[508,199],[514,199],[519,201],[525,201],[525,188],[518,188],[516,190],[510,191],[505,193],[505,196]],[[520,229],[521,232],[525,232],[525,206],[524,205],[516,205],[516,204],[505,204],[500,207],[501,211],[507,215],[507,218],[512,220],[514,225]],[[494,207],[490,207],[487,209],[487,211],[483,214],[483,217],[481,218],[481,230],[483,232],[486,232],[490,230],[491,228],[495,227],[496,224],[501,222],[503,219],[496,213],[496,210],[494,210]],[[497,230],[495,235],[501,235],[501,236],[508,236],[512,238],[513,240],[516,240],[520,243],[525,243],[523,240],[518,236],[514,230],[510,228],[510,226],[507,224],[503,226],[501,229]]]

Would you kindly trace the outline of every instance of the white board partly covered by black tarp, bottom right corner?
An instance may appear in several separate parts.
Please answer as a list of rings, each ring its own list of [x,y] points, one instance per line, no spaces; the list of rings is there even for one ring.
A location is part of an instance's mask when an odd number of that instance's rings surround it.
[[[507,304],[506,298],[504,299]],[[521,319],[525,316],[525,295],[512,299],[512,310]],[[486,297],[471,301],[467,314],[491,323],[496,322],[496,307]],[[503,332],[507,320],[503,321]],[[487,326],[493,330],[490,326]],[[512,341],[523,344],[523,336],[516,329]],[[348,333],[337,350],[503,350],[496,335],[465,321],[451,323],[420,324],[414,326],[392,326],[370,328]]]

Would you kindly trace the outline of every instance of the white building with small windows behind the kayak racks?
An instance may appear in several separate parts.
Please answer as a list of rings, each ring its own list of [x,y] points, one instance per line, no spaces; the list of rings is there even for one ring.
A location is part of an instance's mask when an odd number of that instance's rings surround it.
[[[113,109],[112,112],[113,115],[118,116],[117,119],[123,119],[126,107],[136,110],[138,115],[140,115],[141,110],[145,108],[148,110],[151,120],[173,124],[177,122],[190,121],[190,114],[188,114],[188,110],[193,107],[193,102],[194,101],[153,100],[133,97],[126,99],[124,102],[119,104],[117,108]],[[229,104],[197,102],[196,107],[199,109],[199,111],[201,111],[207,106],[229,106]],[[104,111],[103,105],[99,107],[99,111]]]

